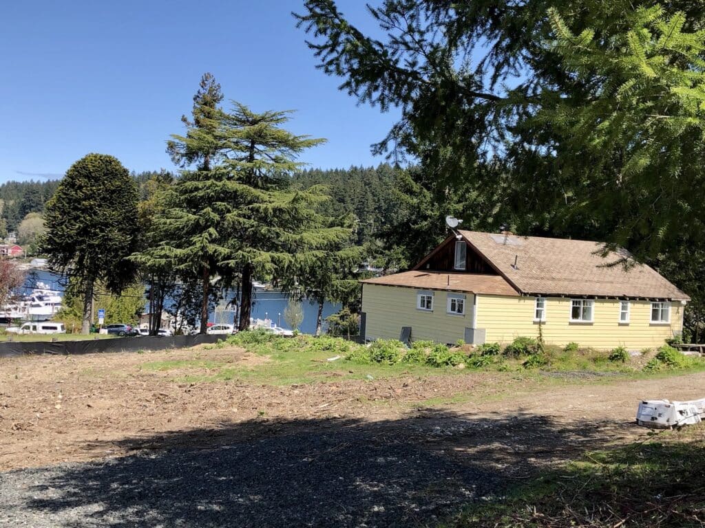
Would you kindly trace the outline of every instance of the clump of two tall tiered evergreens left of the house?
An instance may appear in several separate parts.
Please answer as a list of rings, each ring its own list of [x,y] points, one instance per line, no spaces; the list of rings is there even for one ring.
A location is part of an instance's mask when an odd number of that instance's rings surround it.
[[[252,281],[288,281],[312,265],[327,246],[349,236],[315,211],[322,189],[292,190],[290,176],[303,150],[321,140],[281,128],[287,112],[253,113],[240,103],[231,112],[212,77],[204,77],[185,136],[168,145],[183,170],[164,194],[158,229],[161,244],[145,252],[154,263],[173,263],[181,277],[199,277],[201,332],[218,287],[240,285],[240,329],[250,325]]]

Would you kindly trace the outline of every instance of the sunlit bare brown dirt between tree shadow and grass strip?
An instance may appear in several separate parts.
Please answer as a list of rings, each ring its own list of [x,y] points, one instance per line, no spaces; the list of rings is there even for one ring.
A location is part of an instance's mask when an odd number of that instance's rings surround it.
[[[458,422],[529,417],[575,430],[578,441],[558,446],[560,452],[582,449],[580,437],[593,436],[580,424],[592,430],[601,424],[602,438],[611,441],[644,435],[631,425],[640,399],[696,398],[705,389],[705,374],[599,384],[568,380],[537,389],[506,373],[336,381],[331,372],[318,384],[266,386],[180,383],[174,381],[178,371],[140,367],[193,356],[194,351],[184,350],[0,360],[0,472],[139,450],[222,445],[295,432],[317,420],[384,422],[391,429],[409,419],[435,420],[441,431],[436,440],[442,441],[454,436],[443,431],[457,429]],[[203,351],[201,357],[245,365],[266,361],[236,348]],[[202,370],[207,374],[207,367]],[[443,404],[458,394],[466,396],[453,404],[418,405]],[[472,447],[467,438],[463,443],[450,448]],[[527,439],[525,451],[545,443],[537,433]]]

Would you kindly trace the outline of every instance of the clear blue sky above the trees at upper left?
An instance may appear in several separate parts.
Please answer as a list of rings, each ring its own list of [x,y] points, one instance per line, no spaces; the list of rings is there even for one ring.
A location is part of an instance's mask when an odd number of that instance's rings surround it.
[[[363,29],[362,0],[339,0]],[[312,167],[371,165],[396,118],[357,106],[316,61],[291,11],[299,0],[36,0],[0,17],[0,182],[59,177],[89,152],[130,170],[173,169],[202,73],[254,111],[296,110],[289,129],[329,140]]]

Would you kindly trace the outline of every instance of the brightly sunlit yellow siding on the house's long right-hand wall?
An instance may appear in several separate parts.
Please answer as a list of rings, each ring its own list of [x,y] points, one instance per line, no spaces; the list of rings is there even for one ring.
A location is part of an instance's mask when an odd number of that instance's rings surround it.
[[[535,297],[479,295],[477,328],[486,330],[486,341],[508,343],[517,336],[537,337],[534,322]],[[570,298],[547,297],[546,320],[541,323],[544,341],[563,346],[575,341],[581,346],[610,349],[624,346],[630,350],[661,346],[664,339],[682,330],[680,302],[670,306],[670,324],[651,324],[651,303],[630,301],[630,322],[620,324],[620,301],[595,299],[593,322],[570,322]]]

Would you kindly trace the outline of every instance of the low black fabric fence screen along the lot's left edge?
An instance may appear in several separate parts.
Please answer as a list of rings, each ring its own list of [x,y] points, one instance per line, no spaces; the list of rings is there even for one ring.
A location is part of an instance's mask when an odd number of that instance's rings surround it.
[[[215,343],[227,336],[195,335],[173,337],[118,337],[116,339],[92,339],[86,341],[6,341],[0,343],[0,358],[12,358],[28,354],[94,354],[104,352],[130,352],[137,350],[166,350],[187,348],[204,343]]]

